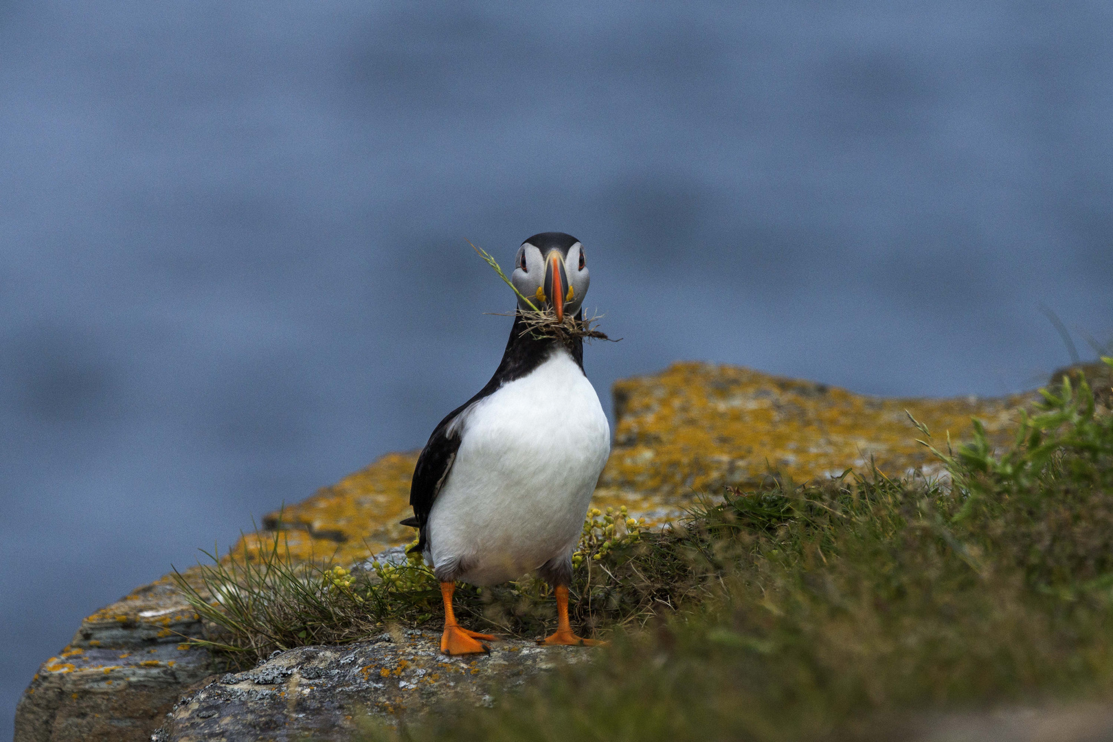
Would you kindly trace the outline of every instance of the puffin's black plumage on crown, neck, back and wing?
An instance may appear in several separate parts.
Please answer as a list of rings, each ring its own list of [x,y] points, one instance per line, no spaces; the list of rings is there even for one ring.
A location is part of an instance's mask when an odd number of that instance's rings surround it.
[[[567,238],[571,240],[568,243],[564,251],[578,241],[574,237],[559,231],[534,235],[525,241],[540,247],[533,240],[542,238],[551,238],[553,240]],[[550,244],[550,247],[559,247],[559,245]],[[575,318],[582,320],[583,311],[579,311]],[[417,544],[410,551],[422,552],[425,548],[429,537],[425,524],[429,522],[429,514],[433,509],[433,501],[436,499],[441,487],[444,486],[444,482],[449,477],[449,472],[452,469],[452,464],[456,459],[456,451],[460,449],[461,429],[460,426],[453,426],[452,423],[476,402],[494,394],[503,384],[529,375],[530,372],[540,366],[549,357],[549,354],[558,342],[553,337],[534,337],[532,333],[526,330],[521,314],[515,313],[514,325],[510,328],[510,339],[506,340],[506,349],[502,354],[502,362],[499,364],[499,368],[495,369],[494,376],[491,377],[491,380],[475,396],[453,409],[437,424],[433,429],[433,434],[429,436],[429,443],[425,444],[421,455],[417,457],[417,465],[414,467],[414,477],[410,484],[410,505],[414,508],[414,515],[402,521],[402,525],[420,528]],[[580,367],[580,370],[583,370],[583,340],[574,338],[568,347],[575,365]]]

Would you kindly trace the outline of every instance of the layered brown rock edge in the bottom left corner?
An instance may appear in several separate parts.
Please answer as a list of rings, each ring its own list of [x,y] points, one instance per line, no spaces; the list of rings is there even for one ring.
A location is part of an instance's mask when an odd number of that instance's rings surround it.
[[[208,652],[183,643],[200,631],[165,578],[101,609],[23,691],[16,742],[149,739],[183,691],[210,672]]]

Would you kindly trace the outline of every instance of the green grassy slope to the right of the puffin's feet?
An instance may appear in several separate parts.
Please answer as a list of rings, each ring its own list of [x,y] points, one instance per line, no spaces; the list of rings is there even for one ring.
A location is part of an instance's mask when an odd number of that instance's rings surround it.
[[[946,486],[728,492],[624,557],[677,610],[491,709],[366,736],[899,739],[933,710],[1113,700],[1113,415],[1064,382],[1008,451],[940,447]]]

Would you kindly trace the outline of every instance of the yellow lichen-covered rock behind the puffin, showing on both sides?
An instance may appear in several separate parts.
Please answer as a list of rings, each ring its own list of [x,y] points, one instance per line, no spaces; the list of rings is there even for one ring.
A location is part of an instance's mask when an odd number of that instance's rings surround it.
[[[757,484],[771,471],[802,482],[870,462],[890,475],[934,464],[905,410],[938,442],[967,436],[971,417],[1004,439],[1031,395],[979,399],[880,398],[748,368],[678,363],[614,385],[614,448],[595,504],[626,506],[650,524],[676,517],[700,494]],[[410,478],[417,453],[387,454],[308,499],[264,518],[297,558],[353,563],[407,543]],[[273,544],[247,536],[237,550]]]

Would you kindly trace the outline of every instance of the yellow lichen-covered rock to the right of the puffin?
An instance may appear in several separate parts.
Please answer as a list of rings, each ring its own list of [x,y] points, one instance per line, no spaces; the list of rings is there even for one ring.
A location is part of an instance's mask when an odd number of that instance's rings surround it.
[[[1031,396],[881,398],[748,368],[678,363],[614,385],[614,447],[595,501],[659,523],[696,493],[754,486],[771,472],[804,482],[864,472],[873,462],[900,476],[935,464],[916,443],[923,436],[907,413],[940,445],[948,432],[967,437],[972,417],[1003,439]]]

